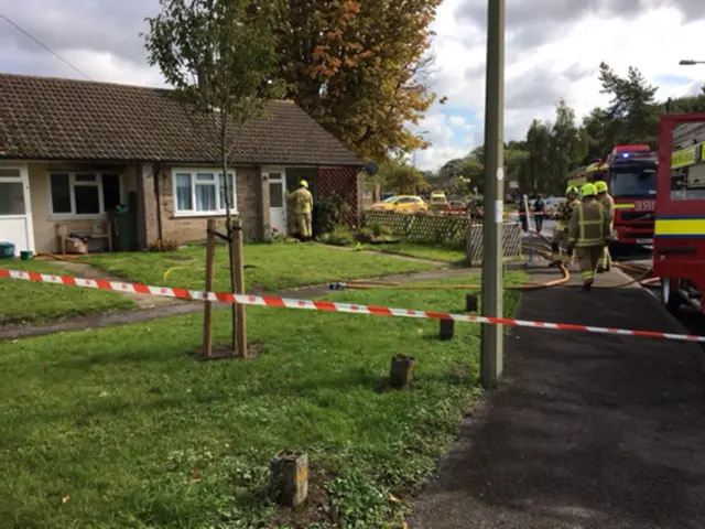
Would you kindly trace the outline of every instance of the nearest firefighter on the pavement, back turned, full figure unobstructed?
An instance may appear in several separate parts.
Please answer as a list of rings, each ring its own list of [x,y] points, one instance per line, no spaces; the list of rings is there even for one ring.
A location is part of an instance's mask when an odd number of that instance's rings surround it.
[[[607,240],[611,236],[610,218],[605,207],[597,202],[595,184],[587,183],[581,188],[583,203],[575,207],[568,225],[568,250],[575,248],[581,263],[583,290],[590,291],[595,281],[597,262],[603,257]]]

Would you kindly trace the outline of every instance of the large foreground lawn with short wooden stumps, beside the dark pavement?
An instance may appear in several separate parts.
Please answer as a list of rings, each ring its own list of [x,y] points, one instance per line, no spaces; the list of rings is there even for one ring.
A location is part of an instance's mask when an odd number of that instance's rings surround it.
[[[462,311],[464,294],[332,298]],[[437,321],[264,307],[248,325],[263,350],[247,361],[187,357],[197,315],[0,344],[3,528],[394,527],[479,393],[479,326],[441,342]],[[416,358],[413,385],[376,390],[395,354]],[[265,499],[282,449],[310,455],[313,507],[293,520]]]

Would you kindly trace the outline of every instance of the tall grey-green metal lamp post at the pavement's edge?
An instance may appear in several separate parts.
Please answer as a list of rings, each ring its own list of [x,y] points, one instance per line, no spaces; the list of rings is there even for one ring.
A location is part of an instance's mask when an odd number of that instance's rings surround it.
[[[485,220],[482,227],[482,315],[502,314],[502,220],[505,198],[505,0],[488,0],[485,95]],[[482,324],[480,378],[485,387],[502,378],[503,326]]]

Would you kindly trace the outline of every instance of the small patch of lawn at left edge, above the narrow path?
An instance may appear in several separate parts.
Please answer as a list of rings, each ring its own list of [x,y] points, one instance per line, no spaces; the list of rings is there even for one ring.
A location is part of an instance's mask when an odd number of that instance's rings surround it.
[[[0,268],[70,276],[63,268],[37,260],[0,260]],[[0,278],[0,324],[42,322],[134,306],[132,300],[115,292],[7,278]]]

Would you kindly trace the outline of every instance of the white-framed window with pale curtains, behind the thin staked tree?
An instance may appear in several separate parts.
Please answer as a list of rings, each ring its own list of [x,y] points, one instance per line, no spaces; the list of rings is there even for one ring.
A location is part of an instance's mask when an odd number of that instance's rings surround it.
[[[174,179],[175,215],[225,215],[226,194],[223,173],[213,170],[176,170]],[[228,173],[230,208],[237,213],[235,173]]]

